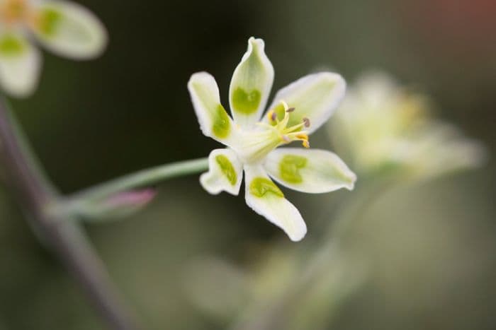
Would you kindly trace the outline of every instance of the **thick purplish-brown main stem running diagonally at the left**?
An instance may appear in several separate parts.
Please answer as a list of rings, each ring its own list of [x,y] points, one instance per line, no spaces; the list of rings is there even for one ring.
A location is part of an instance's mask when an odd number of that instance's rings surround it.
[[[111,329],[137,329],[133,314],[123,305],[103,262],[77,222],[47,213],[47,205],[60,197],[43,171],[38,170],[35,157],[30,153],[26,140],[20,139],[20,134],[5,100],[0,98],[0,157],[21,208],[31,219],[40,238],[69,269]]]

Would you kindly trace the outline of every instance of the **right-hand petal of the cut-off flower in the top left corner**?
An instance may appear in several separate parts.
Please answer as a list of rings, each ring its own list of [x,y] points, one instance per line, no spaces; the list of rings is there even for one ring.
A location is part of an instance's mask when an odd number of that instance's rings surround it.
[[[47,49],[72,59],[98,57],[107,45],[107,32],[88,9],[70,1],[40,1],[33,32]]]

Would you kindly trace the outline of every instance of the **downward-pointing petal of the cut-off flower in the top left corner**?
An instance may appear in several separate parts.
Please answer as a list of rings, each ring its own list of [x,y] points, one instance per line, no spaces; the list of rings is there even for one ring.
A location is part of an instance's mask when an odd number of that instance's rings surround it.
[[[20,33],[0,34],[0,85],[13,96],[33,93],[41,67],[38,49]]]

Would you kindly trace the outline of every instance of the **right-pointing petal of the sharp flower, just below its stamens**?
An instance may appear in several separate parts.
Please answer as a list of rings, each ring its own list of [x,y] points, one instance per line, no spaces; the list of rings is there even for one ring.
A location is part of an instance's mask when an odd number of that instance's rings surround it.
[[[277,182],[298,191],[323,193],[353,189],[356,175],[336,154],[325,150],[278,148],[264,167]]]

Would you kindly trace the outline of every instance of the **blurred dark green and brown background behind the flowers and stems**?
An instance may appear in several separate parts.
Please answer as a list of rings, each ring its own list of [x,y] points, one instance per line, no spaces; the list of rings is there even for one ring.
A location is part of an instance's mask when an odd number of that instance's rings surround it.
[[[350,82],[362,71],[384,69],[431,95],[441,119],[495,154],[495,1],[80,2],[108,28],[103,57],[78,63],[44,54],[38,91],[11,100],[47,173],[65,193],[208,155],[218,145],[198,129],[186,82],[191,73],[209,71],[227,104],[230,76],[252,35],[266,42],[274,91],[322,68]],[[312,136],[312,146],[329,148],[325,132]],[[495,170],[490,157],[479,170],[398,184],[378,196],[349,237],[370,267],[337,309],[323,304],[320,313],[332,314],[323,329],[496,329]],[[310,241],[351,194],[288,191],[307,220]],[[243,198],[208,195],[197,175],[160,185],[157,199],[134,216],[86,228],[146,329],[229,329],[235,323],[239,311],[230,300],[215,302],[219,297],[207,291],[203,300],[220,307],[217,313],[199,308],[194,293],[202,283],[188,273],[197,260],[208,256],[253,269],[273,256],[276,244],[281,258],[312,253],[307,244],[288,244]],[[297,274],[304,271],[293,266]],[[339,264],[329,261],[334,267]],[[274,285],[280,271],[271,270]],[[219,278],[225,272],[220,267]],[[205,285],[212,281],[204,279]],[[226,290],[229,285],[220,292]],[[263,296],[247,299],[263,306]],[[291,314],[308,310],[308,301],[291,299],[302,305]],[[60,263],[38,244],[5,187],[0,329],[105,329]]]

